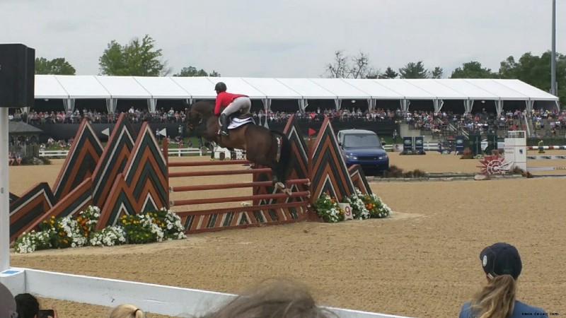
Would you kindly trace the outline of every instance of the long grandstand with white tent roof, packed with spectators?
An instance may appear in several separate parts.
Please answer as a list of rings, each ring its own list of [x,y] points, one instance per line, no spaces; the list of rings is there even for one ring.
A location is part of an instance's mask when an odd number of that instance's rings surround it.
[[[75,130],[57,132],[48,124],[78,125],[83,117],[111,124],[121,112],[129,112],[134,123],[156,122],[177,131],[185,122],[183,100],[214,100],[218,81],[229,91],[249,95],[256,122],[272,129],[282,129],[290,114],[306,122],[304,129],[316,129],[321,117],[329,116],[337,126],[363,126],[388,136],[396,125],[407,124],[433,140],[513,127],[526,129],[529,136],[563,136],[566,127],[557,97],[503,79],[36,75],[33,109],[13,110],[11,116],[57,139]]]

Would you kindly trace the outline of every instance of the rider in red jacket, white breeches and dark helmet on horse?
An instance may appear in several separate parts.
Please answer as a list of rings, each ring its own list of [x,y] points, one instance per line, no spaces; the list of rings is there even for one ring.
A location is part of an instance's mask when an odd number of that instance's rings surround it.
[[[222,82],[216,83],[214,90],[216,90],[214,114],[216,116],[220,115],[220,134],[222,136],[228,136],[229,116],[238,111],[243,113],[250,112],[252,102],[247,95],[226,92],[226,84]],[[226,108],[220,112],[221,107]]]

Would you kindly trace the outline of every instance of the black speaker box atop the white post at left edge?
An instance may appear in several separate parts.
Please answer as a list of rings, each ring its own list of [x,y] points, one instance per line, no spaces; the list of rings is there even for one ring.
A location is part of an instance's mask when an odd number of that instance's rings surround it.
[[[0,107],[33,107],[34,92],[35,49],[0,45]]]

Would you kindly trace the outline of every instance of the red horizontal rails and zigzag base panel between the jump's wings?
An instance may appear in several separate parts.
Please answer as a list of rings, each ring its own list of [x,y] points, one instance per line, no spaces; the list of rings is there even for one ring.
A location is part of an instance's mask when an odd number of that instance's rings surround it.
[[[168,163],[168,167],[212,167],[228,166],[230,170],[200,170],[191,172],[169,172],[169,178],[187,177],[214,177],[228,175],[253,175],[253,182],[218,183],[204,185],[186,185],[170,187],[170,193],[207,191],[212,193],[218,189],[241,189],[251,188],[250,196],[227,196],[210,199],[185,199],[171,200],[171,208],[188,207],[186,211],[175,209],[181,219],[185,219],[187,233],[206,232],[211,230],[228,228],[246,228],[254,225],[270,225],[294,223],[304,216],[308,208],[308,199],[311,192],[308,191],[310,180],[289,179],[287,186],[303,187],[303,191],[292,192],[291,195],[275,192],[271,181],[255,181],[259,175],[268,175],[270,168],[248,168],[243,169],[243,165],[249,164],[248,160],[222,160],[222,161],[197,161]],[[219,178],[223,179],[223,178]],[[275,192],[271,194],[258,194],[265,189],[265,192]],[[234,208],[205,208],[197,209],[194,206],[202,204],[219,204],[226,202],[253,201],[249,206],[239,206]],[[268,203],[264,203],[269,201]],[[192,208],[190,208],[192,207]]]

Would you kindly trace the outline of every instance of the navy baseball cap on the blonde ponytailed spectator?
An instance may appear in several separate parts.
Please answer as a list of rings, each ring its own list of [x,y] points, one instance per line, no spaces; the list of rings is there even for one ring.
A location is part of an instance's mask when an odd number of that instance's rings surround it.
[[[519,251],[507,243],[499,242],[485,247],[480,253],[483,271],[491,279],[499,275],[511,275],[516,280],[521,274],[523,264]]]

